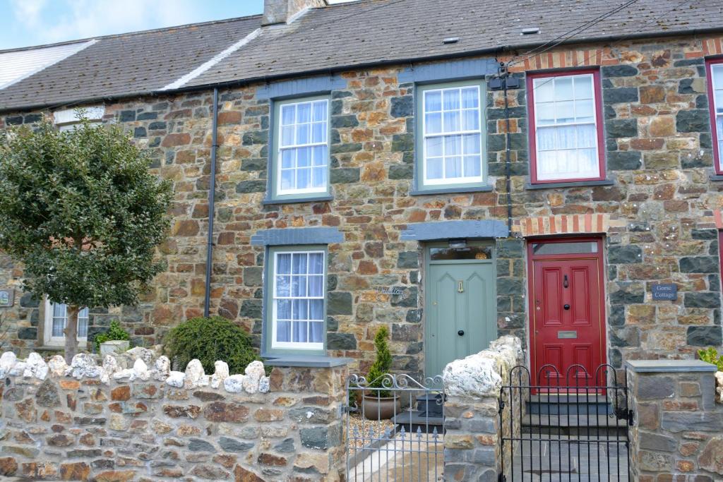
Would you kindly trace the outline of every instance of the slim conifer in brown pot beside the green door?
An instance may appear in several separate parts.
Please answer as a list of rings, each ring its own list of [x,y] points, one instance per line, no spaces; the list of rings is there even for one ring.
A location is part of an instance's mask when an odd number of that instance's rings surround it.
[[[388,390],[391,380],[386,375],[392,368],[392,354],[387,344],[388,337],[389,329],[387,327],[381,327],[374,337],[377,359],[369,367],[367,390],[361,400],[362,413],[369,420],[387,420],[401,410],[399,396]]]

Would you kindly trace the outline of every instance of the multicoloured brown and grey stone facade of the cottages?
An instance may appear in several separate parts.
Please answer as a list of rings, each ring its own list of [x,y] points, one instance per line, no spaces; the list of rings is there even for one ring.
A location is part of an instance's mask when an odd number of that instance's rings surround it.
[[[560,234],[568,217],[578,215],[604,220],[602,231],[587,230],[583,223],[567,232],[605,236],[607,359],[614,366],[633,358],[692,358],[701,346],[723,345],[714,223],[723,197],[719,181],[711,180],[703,65],[705,56],[723,53],[719,46],[719,38],[692,37],[566,46],[511,69],[524,79],[529,70],[600,66],[612,184],[529,189],[525,82],[510,90],[513,233],[494,241],[500,335],[528,339],[525,236]],[[394,369],[423,370],[424,244],[402,240],[401,232],[413,223],[440,220],[507,223],[507,120],[502,92],[489,90],[485,114],[492,191],[412,195],[415,92],[413,83],[400,80],[409,69],[379,66],[334,74],[344,86],[330,92],[331,201],[262,204],[271,119],[270,100],[258,94],[268,86],[221,91],[213,313],[247,327],[260,340],[265,250],[252,246],[251,236],[270,228],[338,228],[343,242],[329,246],[328,353],[356,358],[356,368],[364,370],[373,357],[377,327],[386,324]],[[157,277],[137,308],[95,314],[93,330],[117,318],[134,342],[154,344],[168,327],[201,314],[211,107],[210,92],[106,106],[106,121],[124,126],[150,151],[154,172],[174,181],[176,197],[171,237],[159,250],[168,272]],[[11,126],[37,119],[38,113],[22,113],[1,121]],[[546,221],[533,229],[532,219]],[[0,267],[0,283],[18,288],[20,267],[7,258]],[[651,301],[653,283],[677,284],[677,301]],[[406,296],[377,290],[390,286],[403,288]],[[20,303],[7,311],[16,327],[9,341],[27,353],[40,345],[42,308],[17,299]]]

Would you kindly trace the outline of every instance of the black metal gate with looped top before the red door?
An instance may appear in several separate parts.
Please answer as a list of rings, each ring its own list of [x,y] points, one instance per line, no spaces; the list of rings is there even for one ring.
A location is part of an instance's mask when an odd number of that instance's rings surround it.
[[[510,370],[500,390],[500,481],[629,481],[625,371]]]

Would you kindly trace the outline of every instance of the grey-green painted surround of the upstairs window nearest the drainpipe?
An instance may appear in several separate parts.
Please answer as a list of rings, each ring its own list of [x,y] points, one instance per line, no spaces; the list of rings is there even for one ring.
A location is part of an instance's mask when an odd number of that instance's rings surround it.
[[[312,100],[327,100],[327,159],[326,159],[326,189],[311,193],[294,193],[294,194],[278,194],[278,147],[279,134],[281,131],[281,106],[291,103],[308,102]],[[273,204],[291,204],[294,202],[312,202],[332,199],[330,191],[330,139],[331,139],[331,98],[330,93],[326,92],[321,95],[305,95],[294,98],[284,98],[272,100],[270,106],[270,123],[269,123],[269,160],[268,173],[266,181],[266,197],[262,201],[264,205]],[[309,160],[311,162],[311,160]]]

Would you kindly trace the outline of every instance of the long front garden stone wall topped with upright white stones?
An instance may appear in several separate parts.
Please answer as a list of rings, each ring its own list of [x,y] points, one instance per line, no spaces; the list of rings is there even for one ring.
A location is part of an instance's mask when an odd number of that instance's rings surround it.
[[[245,374],[134,348],[0,357],[0,479],[338,481],[346,366]]]

